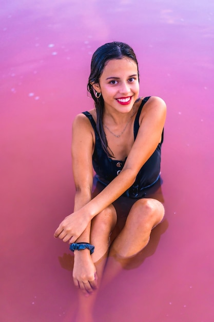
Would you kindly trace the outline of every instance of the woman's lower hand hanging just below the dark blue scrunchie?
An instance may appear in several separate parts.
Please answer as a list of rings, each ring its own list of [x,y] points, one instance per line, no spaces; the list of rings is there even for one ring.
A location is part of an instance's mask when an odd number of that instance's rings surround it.
[[[73,282],[85,296],[98,288],[96,267],[91,259],[89,249],[74,251]]]

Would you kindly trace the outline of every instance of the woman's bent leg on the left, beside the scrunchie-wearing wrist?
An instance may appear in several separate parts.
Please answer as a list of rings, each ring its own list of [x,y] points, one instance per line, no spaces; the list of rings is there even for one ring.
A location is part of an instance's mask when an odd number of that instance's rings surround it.
[[[98,275],[98,286],[103,275],[103,270],[108,256],[110,234],[116,223],[116,211],[113,205],[109,206],[96,217],[91,223],[90,242],[94,245],[94,253],[91,258],[96,267]],[[98,290],[95,290],[89,296],[85,296],[81,290],[78,290],[79,306],[75,322],[92,322],[92,310]]]

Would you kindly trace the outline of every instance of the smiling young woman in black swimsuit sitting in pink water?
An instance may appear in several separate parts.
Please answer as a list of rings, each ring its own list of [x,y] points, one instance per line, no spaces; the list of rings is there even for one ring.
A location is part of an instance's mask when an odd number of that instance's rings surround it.
[[[91,307],[104,266],[107,274],[108,265],[112,272],[114,264],[116,270],[130,261],[164,216],[155,190],[160,186],[166,105],[159,97],[139,98],[138,61],[130,46],[112,42],[94,52],[88,91],[95,108],[73,122],[74,212],[54,234],[74,251],[73,281],[80,298],[84,296],[76,321],[92,320],[85,295],[91,295]],[[93,169],[102,186],[95,196]],[[117,221],[113,203],[120,196],[133,202],[124,227],[110,243]]]

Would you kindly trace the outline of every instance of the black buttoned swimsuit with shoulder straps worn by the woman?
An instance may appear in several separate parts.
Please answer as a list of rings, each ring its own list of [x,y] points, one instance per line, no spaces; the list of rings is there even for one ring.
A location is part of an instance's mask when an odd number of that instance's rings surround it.
[[[145,97],[137,115],[134,120],[134,140],[137,137],[138,130],[139,130],[139,117],[142,111],[144,104],[147,102],[149,97]],[[96,177],[98,181],[103,183],[104,185],[108,185],[123,169],[124,164],[126,162],[126,158],[124,161],[122,160],[114,160],[107,156],[105,151],[102,148],[101,140],[96,130],[96,123],[89,112],[83,112],[86,115],[91,125],[94,129],[95,133],[95,148],[92,156],[93,168],[96,172]],[[163,132],[162,132],[162,139],[161,143],[155,149],[153,154],[147,160],[147,162],[143,165],[141,170],[139,171],[134,184],[125,191],[125,195],[130,198],[142,198],[144,195],[144,189],[151,187],[154,183],[159,180],[160,177],[160,166],[161,166],[161,145],[163,143]],[[142,147],[143,148],[143,147]]]

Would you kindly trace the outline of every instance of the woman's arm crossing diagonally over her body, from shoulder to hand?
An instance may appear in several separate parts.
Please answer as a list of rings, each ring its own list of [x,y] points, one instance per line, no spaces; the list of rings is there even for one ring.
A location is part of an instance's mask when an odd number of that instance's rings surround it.
[[[81,235],[80,226],[84,226],[83,221],[87,226],[87,223],[96,214],[112,204],[134,183],[138,172],[161,140],[165,118],[165,102],[159,97],[151,97],[142,110],[138,135],[126,159],[123,170],[94,199],[67,217],[67,236],[70,238],[70,243],[75,242]],[[60,230],[61,227],[58,229]]]

